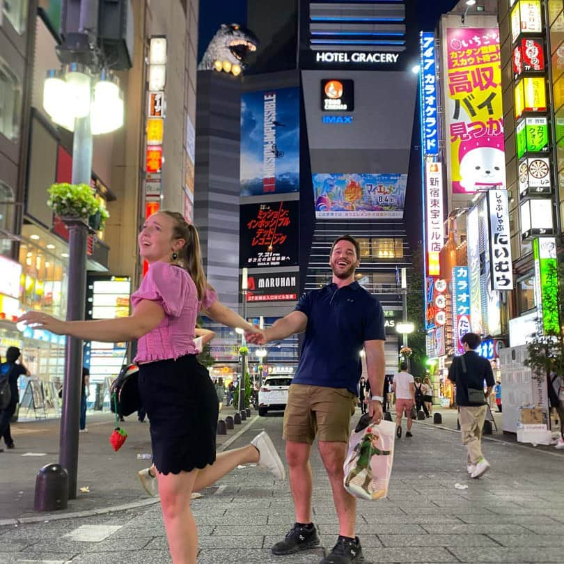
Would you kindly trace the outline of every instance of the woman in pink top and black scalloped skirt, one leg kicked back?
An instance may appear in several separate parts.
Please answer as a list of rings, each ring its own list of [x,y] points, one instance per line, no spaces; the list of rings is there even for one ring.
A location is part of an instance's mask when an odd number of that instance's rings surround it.
[[[258,462],[284,479],[284,467],[268,435],[215,453],[217,394],[194,347],[196,315],[258,332],[219,303],[207,285],[194,226],[177,212],[157,212],[139,234],[141,258],[150,267],[132,295],[133,315],[96,321],[61,321],[33,311],[20,318],[56,334],[118,342],[138,339],[139,391],[150,419],[153,462],[173,564],[195,564],[198,532],[192,492],[212,485],[238,464]]]

